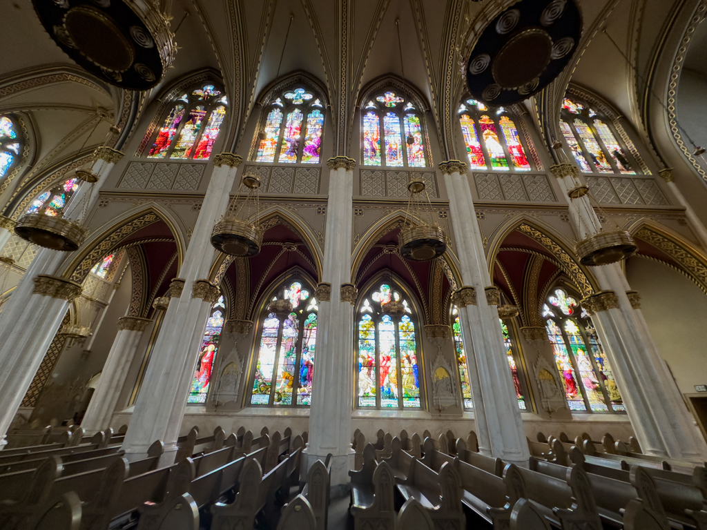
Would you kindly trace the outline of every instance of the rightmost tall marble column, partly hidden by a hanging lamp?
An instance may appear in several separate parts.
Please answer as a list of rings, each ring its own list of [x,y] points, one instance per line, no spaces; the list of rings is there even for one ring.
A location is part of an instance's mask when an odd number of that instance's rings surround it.
[[[579,182],[579,171],[572,164],[550,170],[565,193]],[[588,196],[571,199],[569,208],[580,239],[602,230]],[[621,264],[594,266],[592,273],[601,290],[582,300],[582,306],[592,315],[643,452],[703,462],[707,444],[658,353]]]

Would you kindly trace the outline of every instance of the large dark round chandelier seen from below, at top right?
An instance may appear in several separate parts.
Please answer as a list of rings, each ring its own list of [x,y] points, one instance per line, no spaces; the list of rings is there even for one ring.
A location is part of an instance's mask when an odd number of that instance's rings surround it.
[[[530,98],[559,76],[582,36],[575,0],[521,0],[493,18],[467,60],[467,86],[487,105]]]

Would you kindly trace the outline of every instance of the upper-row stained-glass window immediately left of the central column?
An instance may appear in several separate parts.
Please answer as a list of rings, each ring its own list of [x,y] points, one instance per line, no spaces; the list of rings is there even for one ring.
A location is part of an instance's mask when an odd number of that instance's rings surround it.
[[[320,163],[324,105],[313,90],[288,88],[264,112],[264,124],[256,133],[257,162]]]

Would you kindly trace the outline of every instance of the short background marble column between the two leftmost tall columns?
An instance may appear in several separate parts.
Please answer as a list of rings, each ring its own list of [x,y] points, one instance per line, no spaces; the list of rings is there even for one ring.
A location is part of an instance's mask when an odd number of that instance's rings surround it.
[[[135,356],[142,333],[150,322],[150,319],[140,317],[122,317],[118,320],[118,332],[113,346],[108,352],[98,386],[81,421],[81,427],[88,434],[110,427],[110,418],[118,404],[125,376]]]

